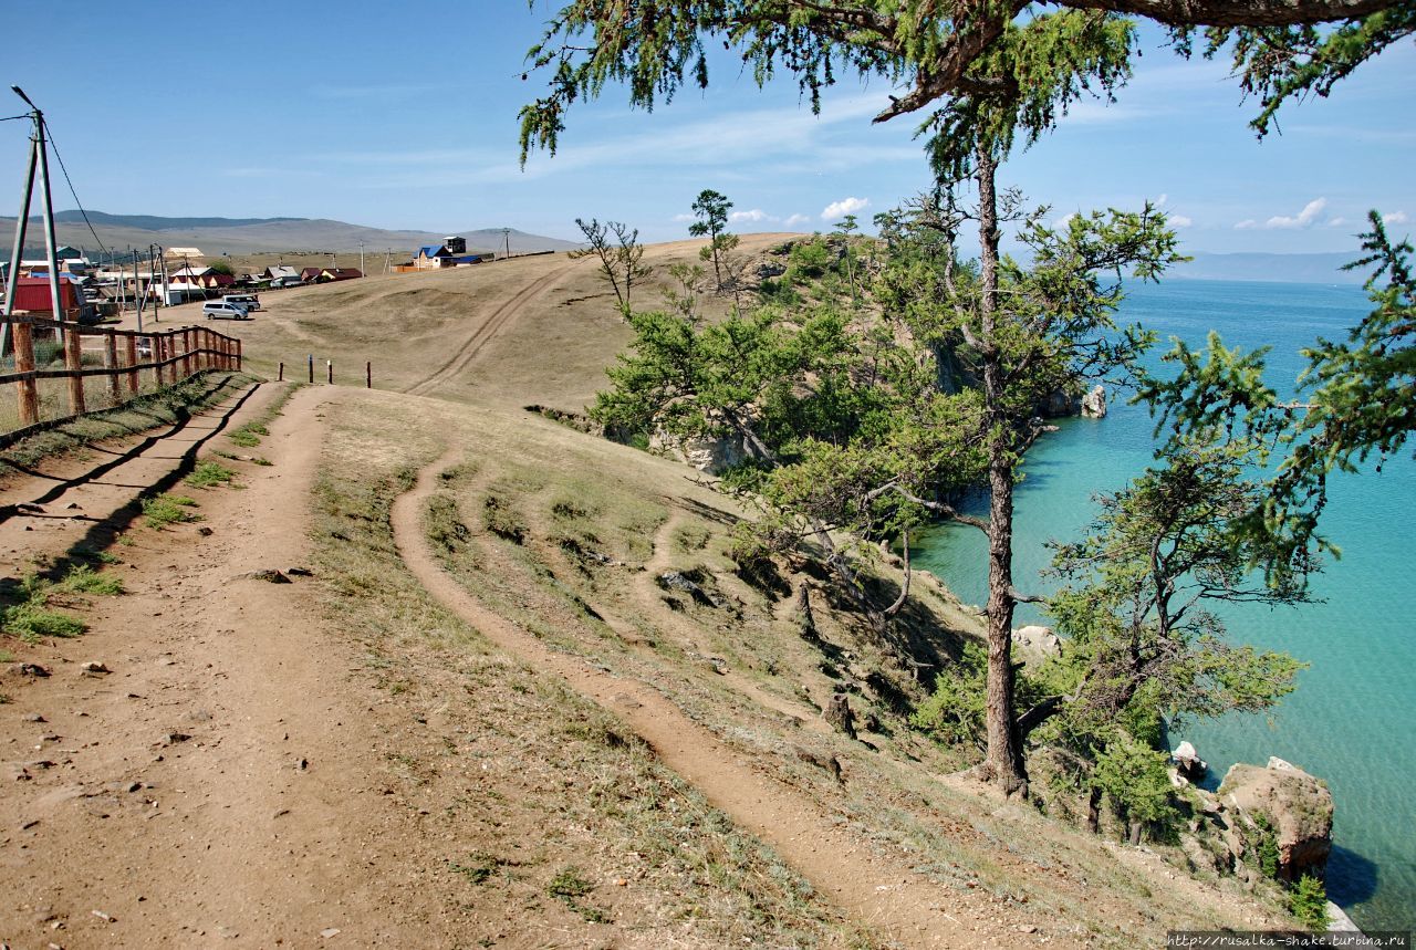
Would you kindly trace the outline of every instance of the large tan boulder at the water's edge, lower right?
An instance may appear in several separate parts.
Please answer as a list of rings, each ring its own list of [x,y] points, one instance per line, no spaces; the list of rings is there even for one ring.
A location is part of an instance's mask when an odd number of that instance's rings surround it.
[[[1219,784],[1219,797],[1236,813],[1246,847],[1256,847],[1259,815],[1267,818],[1279,849],[1277,876],[1323,876],[1332,851],[1332,793],[1303,769],[1270,759],[1269,767],[1235,765]]]

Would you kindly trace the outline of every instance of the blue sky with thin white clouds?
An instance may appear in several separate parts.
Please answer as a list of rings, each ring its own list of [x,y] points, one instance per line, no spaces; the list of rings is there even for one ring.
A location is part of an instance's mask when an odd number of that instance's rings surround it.
[[[687,236],[702,188],[726,194],[749,232],[828,228],[843,210],[868,221],[929,184],[913,122],[869,122],[885,84],[841,82],[813,116],[794,84],[759,91],[729,58],[707,92],[653,113],[606,91],[571,112],[556,157],[521,170],[517,110],[544,89],[535,74],[521,79],[523,57],[551,3],[338,8],[34,4],[0,14],[0,89],[21,85],[45,109],[79,198],[113,214],[562,238],[578,236],[576,217],[598,217],[668,241]],[[1259,143],[1255,103],[1223,64],[1148,44],[1117,103],[1075,108],[1003,177],[1056,218],[1164,200],[1188,251],[1351,251],[1368,208],[1398,232],[1416,219],[1413,89],[1416,44],[1405,42],[1331,99],[1287,109],[1283,135]],[[8,99],[0,116],[23,110]],[[0,122],[4,214],[25,147],[24,123]],[[55,207],[72,207],[58,188]]]

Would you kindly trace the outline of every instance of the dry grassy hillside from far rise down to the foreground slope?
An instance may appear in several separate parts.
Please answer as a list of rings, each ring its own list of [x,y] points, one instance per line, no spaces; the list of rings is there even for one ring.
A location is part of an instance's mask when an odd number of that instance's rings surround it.
[[[779,239],[749,236],[743,249],[762,253]],[[663,277],[695,255],[697,244],[683,242],[651,248],[646,261]],[[688,946],[736,942],[745,934],[732,929],[735,915],[773,922],[773,940],[787,946],[889,946],[803,896],[773,855],[701,804],[685,806],[698,817],[685,813],[681,834],[633,807],[641,796],[687,793],[634,748],[616,752],[622,723],[497,658],[409,576],[392,541],[392,500],[449,450],[456,464],[425,505],[422,532],[464,590],[556,654],[650,684],[868,842],[862,859],[925,875],[957,919],[960,944],[1160,946],[1172,927],[1283,920],[1233,881],[1191,881],[1178,851],[1119,847],[956,776],[961,762],[905,722],[926,684],[831,596],[811,562],[779,565],[766,580],[745,576],[729,532],[749,511],[691,469],[527,412],[531,404],[582,411],[630,337],[593,262],[551,255],[272,293],[265,303],[253,321],[229,327],[245,340],[249,368],[273,374],[285,361],[287,378],[303,378],[313,355],[317,379],[330,360],[337,382],[360,387],[368,360],[384,389],[346,391],[324,409],[316,541],[327,609],[368,644],[391,692],[456,708],[459,722],[489,736],[489,767],[503,776],[496,790],[508,804],[459,791],[442,767],[446,750],[432,742],[411,749],[404,766],[421,801],[470,815],[459,842],[525,862],[515,874],[489,872],[504,889],[498,906],[544,893],[572,859],[588,879],[615,878],[633,852],[653,885],[634,891],[633,913],[667,908],[692,922]],[[173,309],[163,320],[193,317]],[[896,566],[874,571],[882,595],[898,589]],[[793,605],[803,585],[820,639],[800,636]],[[915,592],[905,620],[915,639],[949,654],[976,634],[977,619],[932,578],[918,573]],[[464,681],[449,680],[452,670]],[[826,726],[821,709],[835,692],[868,721],[861,740]],[[674,883],[683,875],[692,891]],[[753,882],[763,875],[775,883]],[[593,900],[582,910],[619,913]]]

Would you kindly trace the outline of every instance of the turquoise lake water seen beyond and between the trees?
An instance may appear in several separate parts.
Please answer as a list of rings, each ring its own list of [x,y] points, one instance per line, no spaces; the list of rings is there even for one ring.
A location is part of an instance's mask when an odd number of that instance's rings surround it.
[[[1226,345],[1272,345],[1272,382],[1301,370],[1298,347],[1338,338],[1369,310],[1359,287],[1171,282],[1134,287],[1123,320],[1192,345],[1219,330]],[[1168,348],[1164,345],[1161,348]],[[1076,537],[1090,498],[1138,473],[1151,452],[1143,408],[1117,405],[1106,419],[1069,419],[1028,456],[1017,496],[1014,573],[1020,589],[1051,589],[1044,541]],[[1222,610],[1236,641],[1286,650],[1311,664],[1298,689],[1269,715],[1232,715],[1172,733],[1189,739],[1223,776],[1235,762],[1279,756],[1328,782],[1337,803],[1328,895],[1364,929],[1416,926],[1416,463],[1412,446],[1381,473],[1332,484],[1325,534],[1342,548],[1315,578],[1324,603]],[[1372,466],[1369,466],[1371,469]],[[971,500],[986,513],[983,500]],[[987,549],[971,528],[943,527],[919,548],[916,566],[940,576],[966,603],[987,599]],[[1045,623],[1021,605],[1018,624]]]

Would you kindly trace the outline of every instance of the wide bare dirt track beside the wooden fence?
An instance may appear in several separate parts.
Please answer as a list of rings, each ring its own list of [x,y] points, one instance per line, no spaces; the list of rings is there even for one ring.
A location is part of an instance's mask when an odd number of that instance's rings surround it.
[[[253,452],[272,464],[245,466],[244,491],[181,487],[202,522],[154,531],[125,508],[272,389],[10,493],[44,508],[0,525],[11,576],[33,555],[113,532],[127,542],[109,548],[122,563],[105,572],[127,593],[93,597],[81,639],[7,643],[0,942],[312,946],[338,930],[346,946],[415,946],[419,920],[438,913],[436,895],[399,888],[388,861],[418,835],[377,786],[398,729],[347,682],[353,646],[314,616],[312,582],[242,576],[307,554],[327,391],[297,394],[270,425]],[[51,675],[17,675],[20,661]],[[110,673],[85,674],[84,661]]]

